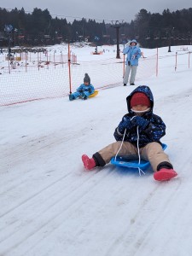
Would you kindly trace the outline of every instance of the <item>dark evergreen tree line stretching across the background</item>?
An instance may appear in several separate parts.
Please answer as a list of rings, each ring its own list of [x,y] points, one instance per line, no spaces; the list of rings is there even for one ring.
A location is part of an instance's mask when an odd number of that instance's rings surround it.
[[[136,38],[145,48],[166,45],[191,44],[192,40],[192,8],[170,12],[165,9],[162,14],[151,14],[141,9],[130,23],[116,20],[113,22],[96,22],[84,19],[67,22],[66,18],[53,18],[48,9],[33,9],[26,13],[25,9],[0,8],[0,47],[43,46],[60,44],[61,42],[86,41],[97,45],[116,44],[116,30],[119,26],[119,44]],[[12,30],[6,31],[5,26]]]

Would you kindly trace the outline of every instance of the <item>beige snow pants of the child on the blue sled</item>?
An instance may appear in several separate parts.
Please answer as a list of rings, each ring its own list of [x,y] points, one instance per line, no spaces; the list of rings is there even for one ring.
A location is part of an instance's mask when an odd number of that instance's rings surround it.
[[[117,154],[120,145],[121,142],[112,143],[109,144],[107,147],[102,148],[102,150],[98,151],[100,156],[102,156],[103,163],[109,163],[111,158]],[[163,151],[160,143],[148,143],[145,147],[139,148],[139,153],[142,160],[148,160],[150,162],[154,172],[157,171],[157,166],[162,162],[168,162],[171,164],[168,155]],[[93,157],[96,156],[96,154],[94,154]],[[124,142],[119,150],[118,155],[129,156],[131,159],[138,159],[138,150],[137,147],[135,147],[131,143]]]

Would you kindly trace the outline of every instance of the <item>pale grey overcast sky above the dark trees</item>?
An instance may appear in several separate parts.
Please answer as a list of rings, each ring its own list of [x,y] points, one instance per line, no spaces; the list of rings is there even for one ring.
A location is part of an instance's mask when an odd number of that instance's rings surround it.
[[[73,21],[78,18],[95,19],[97,22],[102,20],[124,20],[130,22],[140,9],[146,9],[151,13],[162,14],[164,9],[176,11],[177,9],[192,8],[191,0],[1,0],[0,8],[21,9],[26,12],[32,12],[34,8],[48,9],[50,15],[55,17],[67,18],[67,21]],[[61,16],[60,16],[61,15]]]

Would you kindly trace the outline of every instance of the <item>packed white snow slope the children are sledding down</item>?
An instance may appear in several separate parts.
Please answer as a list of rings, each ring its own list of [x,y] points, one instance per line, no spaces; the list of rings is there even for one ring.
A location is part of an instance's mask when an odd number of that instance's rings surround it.
[[[175,72],[172,50],[160,49],[158,78],[137,83],[151,88],[166,123],[161,141],[178,173],[171,181],[82,165],[82,154],[114,141],[136,86],[0,108],[0,255],[192,255],[192,72],[187,55]]]

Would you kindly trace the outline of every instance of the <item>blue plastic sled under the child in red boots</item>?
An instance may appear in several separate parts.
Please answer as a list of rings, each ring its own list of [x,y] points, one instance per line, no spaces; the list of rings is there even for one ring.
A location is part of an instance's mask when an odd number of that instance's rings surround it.
[[[167,145],[162,143],[162,148],[163,150],[165,150],[167,148]],[[126,158],[125,156],[117,156],[116,160],[115,160],[115,157],[113,157],[111,159],[111,164],[115,166],[123,166],[123,167],[131,168],[131,169],[140,168],[142,170],[145,170],[150,166],[150,163],[146,160],[141,160],[139,164],[138,159],[131,160]]]

